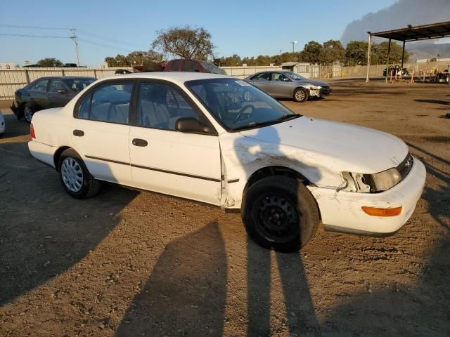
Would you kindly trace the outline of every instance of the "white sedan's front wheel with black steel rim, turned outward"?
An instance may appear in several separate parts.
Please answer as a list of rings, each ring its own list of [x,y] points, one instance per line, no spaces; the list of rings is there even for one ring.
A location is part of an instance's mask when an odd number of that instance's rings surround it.
[[[251,185],[243,197],[241,216],[254,242],[284,253],[304,247],[316,234],[320,221],[316,201],[307,187],[285,176],[269,176]]]

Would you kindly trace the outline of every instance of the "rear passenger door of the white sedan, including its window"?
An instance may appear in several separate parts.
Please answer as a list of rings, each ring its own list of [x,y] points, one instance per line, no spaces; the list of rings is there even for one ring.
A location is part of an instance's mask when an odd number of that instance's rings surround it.
[[[128,145],[133,88],[133,81],[96,86],[75,107],[72,143],[95,178],[133,185]]]

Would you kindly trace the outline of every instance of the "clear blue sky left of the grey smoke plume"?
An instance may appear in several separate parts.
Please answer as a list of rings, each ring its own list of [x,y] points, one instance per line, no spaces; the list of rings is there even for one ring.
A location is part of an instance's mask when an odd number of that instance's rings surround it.
[[[229,1],[15,1],[0,0],[0,62],[23,65],[41,58],[76,62],[68,38],[8,37],[1,34],[69,37],[76,28],[82,65],[97,66],[106,56],[146,51],[158,29],[204,27],[212,34],[215,57],[275,55],[302,50],[308,41],[340,39],[347,25],[395,0],[229,0]],[[217,4],[217,3],[220,3]],[[317,4],[317,5],[315,5]],[[35,28],[6,27],[31,26]],[[50,27],[60,29],[38,29]]]

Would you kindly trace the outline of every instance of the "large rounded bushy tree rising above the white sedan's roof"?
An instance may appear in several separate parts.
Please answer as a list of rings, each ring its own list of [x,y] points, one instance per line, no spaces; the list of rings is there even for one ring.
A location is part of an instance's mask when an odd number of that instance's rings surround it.
[[[189,25],[156,31],[152,46],[160,48],[163,53],[197,60],[207,60],[214,50],[211,34],[203,27],[192,28]]]

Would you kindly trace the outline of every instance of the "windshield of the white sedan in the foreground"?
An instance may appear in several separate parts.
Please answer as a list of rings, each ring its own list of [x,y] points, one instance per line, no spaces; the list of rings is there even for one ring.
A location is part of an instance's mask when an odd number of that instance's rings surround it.
[[[228,131],[257,128],[300,117],[240,79],[202,79],[186,86]]]

